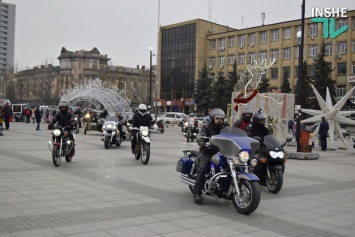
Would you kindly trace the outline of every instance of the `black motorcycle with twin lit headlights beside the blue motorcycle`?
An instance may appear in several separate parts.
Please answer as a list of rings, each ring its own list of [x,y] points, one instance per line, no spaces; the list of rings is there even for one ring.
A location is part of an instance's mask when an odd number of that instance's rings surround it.
[[[280,142],[272,135],[264,137],[254,137],[261,144],[261,148],[255,153],[254,158],[258,161],[254,167],[254,174],[259,177],[260,184],[266,185],[271,193],[278,193],[283,185],[283,174],[285,172],[284,146],[292,138],[287,138],[286,142]]]

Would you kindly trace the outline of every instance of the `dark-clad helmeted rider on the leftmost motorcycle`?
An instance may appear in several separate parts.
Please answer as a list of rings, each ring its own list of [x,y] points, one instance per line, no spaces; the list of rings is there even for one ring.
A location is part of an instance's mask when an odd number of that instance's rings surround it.
[[[68,109],[68,102],[66,101],[60,101],[58,104],[59,107],[59,113],[56,113],[56,115],[53,117],[52,121],[48,124],[48,129],[53,129],[53,125],[58,122],[58,126],[65,127],[67,126],[68,128],[68,137],[70,140],[73,141],[75,145],[75,139],[72,130],[74,129],[74,115],[69,112]],[[71,121],[72,120],[72,121]],[[71,121],[71,123],[69,123]]]

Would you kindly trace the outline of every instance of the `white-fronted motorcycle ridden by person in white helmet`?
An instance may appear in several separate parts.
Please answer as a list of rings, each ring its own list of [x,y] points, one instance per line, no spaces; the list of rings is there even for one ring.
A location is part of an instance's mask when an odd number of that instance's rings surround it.
[[[145,126],[140,126],[139,128],[132,128],[131,130],[138,131],[137,144],[136,144],[136,160],[141,159],[144,165],[148,164],[150,158],[150,137],[149,129]]]

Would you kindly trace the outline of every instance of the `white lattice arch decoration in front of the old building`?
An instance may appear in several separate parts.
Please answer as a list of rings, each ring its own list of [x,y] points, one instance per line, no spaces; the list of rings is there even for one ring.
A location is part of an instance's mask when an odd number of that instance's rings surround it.
[[[106,82],[96,78],[86,85],[76,86],[62,96],[61,100],[67,101],[70,106],[79,102],[90,102],[96,109],[107,109],[108,111],[131,111],[131,101],[118,91],[117,87],[108,85]]]

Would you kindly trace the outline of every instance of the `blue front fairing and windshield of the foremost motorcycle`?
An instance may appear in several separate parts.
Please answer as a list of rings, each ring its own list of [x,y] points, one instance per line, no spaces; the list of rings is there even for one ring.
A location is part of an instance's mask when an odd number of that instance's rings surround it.
[[[233,159],[239,152],[244,150],[253,154],[259,148],[259,141],[247,136],[240,128],[227,127],[221,133],[211,137],[211,144],[217,146],[223,156]]]

